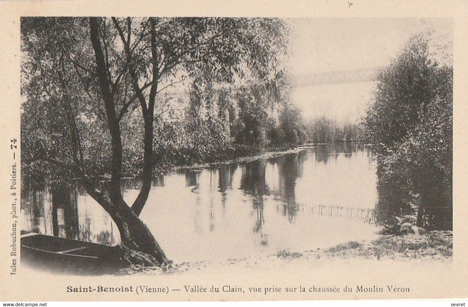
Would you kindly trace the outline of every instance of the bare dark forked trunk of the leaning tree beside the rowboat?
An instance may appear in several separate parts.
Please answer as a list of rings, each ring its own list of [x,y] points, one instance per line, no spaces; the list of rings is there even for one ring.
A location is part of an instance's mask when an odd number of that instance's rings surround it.
[[[164,265],[167,262],[166,255],[162,251],[159,244],[156,242],[151,231],[146,227],[145,223],[138,217],[139,212],[143,208],[146,202],[149,187],[151,186],[151,153],[153,149],[153,108],[154,98],[156,95],[156,87],[152,87],[150,93],[150,104],[148,109],[151,112],[147,112],[146,103],[141,92],[140,98],[142,98],[142,108],[145,116],[145,158],[144,158],[144,169],[143,169],[143,181],[144,187],[138,197],[138,203],[141,204],[141,208],[138,213],[135,213],[130,208],[122,197],[122,191],[120,187],[120,180],[122,178],[122,138],[120,131],[119,119],[116,115],[116,105],[114,97],[111,92],[110,84],[107,74],[107,67],[102,51],[101,40],[99,37],[99,21],[97,18],[89,18],[90,25],[90,38],[95,51],[96,61],[96,75],[99,81],[99,87],[104,101],[104,107],[106,110],[107,122],[109,126],[109,132],[112,142],[112,175],[109,186],[107,187],[107,195],[102,192],[98,192],[95,188],[88,184],[88,194],[91,195],[109,214],[110,217],[117,224],[117,228],[120,232],[122,239],[122,245],[133,250],[149,254],[154,257],[155,261],[159,265]],[[154,29],[152,29],[154,30]],[[152,31],[152,42],[155,39]],[[124,41],[124,40],[123,40]],[[124,41],[124,47],[129,48],[127,45],[129,42]],[[128,51],[128,50],[127,50]],[[128,57],[128,60],[131,60]],[[130,63],[130,62],[129,62]],[[131,66],[131,64],[129,65]],[[130,68],[129,68],[130,69]],[[132,71],[130,71],[132,73]],[[134,80],[135,81],[135,80]],[[138,84],[136,85],[138,87]],[[148,186],[149,185],[149,186]]]

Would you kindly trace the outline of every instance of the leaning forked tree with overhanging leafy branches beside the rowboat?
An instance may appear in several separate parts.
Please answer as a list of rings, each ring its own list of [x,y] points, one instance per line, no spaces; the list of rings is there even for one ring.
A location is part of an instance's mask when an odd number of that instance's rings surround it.
[[[268,82],[287,32],[269,18],[22,18],[23,180],[79,180],[116,223],[124,247],[165,264],[139,218],[151,187],[158,94],[185,78]],[[129,139],[135,117],[128,114],[137,110],[140,136]],[[130,160],[132,150],[141,154]],[[135,164],[142,185],[129,204],[121,178]],[[110,180],[102,183],[104,173]]]

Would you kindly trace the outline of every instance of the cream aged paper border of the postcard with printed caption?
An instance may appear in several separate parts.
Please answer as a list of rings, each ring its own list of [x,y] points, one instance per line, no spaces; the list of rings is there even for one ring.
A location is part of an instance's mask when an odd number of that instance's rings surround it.
[[[465,121],[467,114],[467,1],[3,1],[0,3],[1,53],[1,206],[0,206],[0,300],[350,300],[350,299],[436,299],[468,297],[468,207],[465,199],[467,158]],[[79,276],[37,270],[20,263],[20,94],[21,58],[20,18],[32,16],[134,16],[134,17],[278,17],[288,20],[310,18],[311,23],[331,20],[368,22],[379,27],[380,21],[400,19],[444,19],[453,22],[453,257],[451,260],[391,258],[321,258],[305,249],[256,258],[246,256],[209,262],[193,261],[186,272],[166,274],[112,274]],[[372,22],[368,19],[372,18]],[[406,21],[405,21],[406,20]],[[345,23],[343,23],[345,24]],[[375,32],[375,31],[374,31]],[[378,31],[377,31],[378,32]],[[327,34],[324,34],[325,36]],[[320,35],[316,35],[320,37]],[[344,39],[345,37],[343,37]],[[369,40],[371,41],[371,37]],[[392,41],[397,39],[389,37]],[[312,39],[311,42],[313,43]],[[309,42],[309,43],[311,43]],[[317,47],[319,49],[320,46]],[[369,49],[373,45],[368,46]],[[351,50],[351,53],[357,50]],[[353,54],[354,56],[355,54]],[[377,57],[377,55],[376,55]],[[320,59],[317,59],[320,60]],[[369,66],[374,66],[369,59]],[[344,67],[342,70],[348,70]],[[335,69],[339,70],[339,69]],[[353,91],[352,89],[350,90]],[[344,103],[343,103],[344,104]],[[338,104],[339,105],[339,104]],[[12,140],[17,140],[12,142]],[[13,145],[13,147],[12,147]],[[16,146],[16,147],[15,147]],[[15,156],[14,156],[15,154]],[[14,166],[15,165],[15,166]],[[287,176],[288,169],[286,169]],[[14,174],[12,174],[14,173]],[[15,176],[13,176],[15,175]],[[186,179],[187,180],[187,179]],[[258,180],[258,178],[254,179]],[[327,179],[330,180],[330,179]],[[15,183],[13,183],[15,181]],[[211,181],[210,181],[211,182]],[[15,185],[16,188],[11,188]],[[188,187],[191,184],[187,183]],[[235,188],[235,187],[234,187]],[[191,192],[197,192],[192,188]],[[17,194],[12,195],[16,192]],[[173,195],[181,193],[171,191]],[[337,195],[339,191],[335,191]],[[135,195],[136,196],[136,195]],[[166,199],[164,198],[166,197]],[[235,196],[234,202],[236,201]],[[170,196],[161,201],[171,202]],[[202,198],[203,202],[203,198]],[[218,200],[219,202],[219,200]],[[239,202],[241,200],[239,199]],[[214,201],[215,206],[219,203]],[[255,205],[254,205],[255,206]],[[328,208],[328,207],[327,207]],[[331,207],[330,207],[331,208]],[[330,209],[332,210],[332,209]],[[66,214],[60,211],[60,214]],[[262,211],[263,212],[263,211]],[[332,211],[330,211],[332,212]],[[157,213],[157,212],[156,212]],[[56,213],[57,214],[57,213]],[[255,214],[255,213],[253,213]],[[57,217],[56,217],[57,218]],[[77,217],[78,218],[78,217]],[[180,217],[182,218],[182,217]],[[205,218],[205,217],[203,217]],[[287,216],[286,216],[287,218]],[[177,217],[168,217],[169,226]],[[24,219],[23,219],[24,220]],[[254,218],[255,220],[255,218]],[[52,222],[53,223],[53,222]],[[186,222],[194,223],[193,220]],[[232,223],[243,223],[240,219]],[[265,222],[265,223],[268,223]],[[274,223],[273,221],[271,223]],[[296,221],[296,223],[299,223]],[[190,224],[190,227],[193,226]],[[249,231],[252,226],[248,226]],[[261,227],[261,225],[260,225]],[[266,227],[266,226],[265,226]],[[18,239],[13,243],[12,231]],[[171,232],[170,230],[168,230]],[[208,230],[207,230],[208,231]],[[255,230],[254,230],[255,231]],[[337,230],[338,231],[338,230]],[[331,231],[333,232],[333,231]],[[333,237],[329,232],[317,236]],[[176,232],[183,235],[183,232]],[[157,234],[154,234],[158,239]],[[242,236],[236,234],[232,236]],[[307,242],[310,233],[295,233]],[[263,237],[263,234],[262,234]],[[272,236],[271,236],[272,237]],[[180,237],[180,249],[188,255],[203,255]],[[213,238],[217,240],[217,238]],[[266,240],[266,239],[264,239]],[[310,238],[312,240],[312,237]],[[347,241],[347,240],[344,240]],[[224,241],[219,239],[217,244]],[[242,244],[242,241],[239,241]],[[15,250],[13,250],[13,244]],[[189,247],[184,246],[188,244]],[[191,245],[190,245],[191,244]],[[265,241],[260,244],[268,244]],[[164,244],[162,247],[164,248]],[[336,244],[335,244],[336,245]],[[300,245],[303,246],[303,245]],[[193,250],[190,250],[193,249]],[[212,247],[213,248],[213,247]],[[240,247],[243,248],[243,247]],[[70,248],[73,249],[73,248]],[[219,247],[219,250],[223,250]],[[289,253],[291,252],[291,254]],[[295,258],[295,251],[303,252]],[[216,253],[216,246],[211,253]],[[13,253],[13,256],[12,256]],[[17,253],[17,256],[15,256]],[[306,257],[306,256],[310,257]],[[202,257],[202,256],[200,256]],[[200,258],[198,257],[198,259]],[[250,257],[250,258],[249,258]],[[274,258],[271,261],[271,258]],[[185,258],[183,258],[185,259]],[[240,263],[240,264],[239,264]],[[190,265],[189,265],[190,266]],[[87,292],[81,289],[91,289]],[[113,291],[110,292],[109,289]],[[216,292],[215,289],[219,292]],[[314,290],[324,289],[325,290]],[[353,291],[345,291],[351,288]],[[358,289],[368,289],[359,291]],[[75,290],[76,289],[76,290]],[[80,290],[79,290],[80,289]],[[377,289],[377,290],[376,290]],[[379,289],[382,289],[380,291]],[[395,290],[396,289],[396,290]]]

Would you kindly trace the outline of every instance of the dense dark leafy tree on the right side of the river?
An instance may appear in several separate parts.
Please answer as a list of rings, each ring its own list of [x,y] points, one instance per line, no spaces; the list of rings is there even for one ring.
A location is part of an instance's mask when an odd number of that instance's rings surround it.
[[[453,69],[417,35],[380,72],[364,120],[376,153],[380,206],[402,215],[417,208],[418,225],[452,227]]]

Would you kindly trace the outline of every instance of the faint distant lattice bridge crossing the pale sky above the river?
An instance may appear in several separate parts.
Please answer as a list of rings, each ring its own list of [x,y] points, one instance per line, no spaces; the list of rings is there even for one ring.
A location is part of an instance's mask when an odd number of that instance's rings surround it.
[[[292,86],[303,87],[322,84],[375,81],[379,70],[382,68],[383,67],[373,67],[358,70],[337,70],[316,74],[298,75],[292,77]]]

